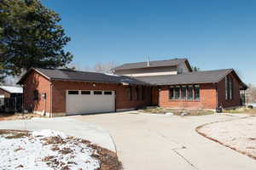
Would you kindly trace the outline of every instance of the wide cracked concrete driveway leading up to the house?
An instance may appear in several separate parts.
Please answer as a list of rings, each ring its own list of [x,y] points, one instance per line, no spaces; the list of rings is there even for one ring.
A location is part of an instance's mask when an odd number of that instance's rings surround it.
[[[195,127],[232,116],[159,116],[113,113],[71,116],[93,122],[112,135],[127,170],[253,170],[256,161],[205,139]]]

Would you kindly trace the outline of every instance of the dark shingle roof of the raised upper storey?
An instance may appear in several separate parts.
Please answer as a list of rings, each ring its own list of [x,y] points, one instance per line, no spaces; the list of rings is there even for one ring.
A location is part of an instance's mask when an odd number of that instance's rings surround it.
[[[166,59],[166,60],[158,60],[158,61],[149,61],[148,62],[140,62],[140,63],[127,63],[124,65],[120,65],[115,67],[114,71],[127,70],[127,69],[140,69],[140,68],[148,68],[148,67],[159,67],[159,66],[175,66],[179,65],[182,62],[185,62],[187,59]]]

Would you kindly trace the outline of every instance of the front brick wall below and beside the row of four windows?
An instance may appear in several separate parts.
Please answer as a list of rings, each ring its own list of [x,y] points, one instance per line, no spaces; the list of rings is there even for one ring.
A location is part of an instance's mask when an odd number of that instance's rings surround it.
[[[169,86],[162,86],[160,90],[160,107],[187,108],[187,109],[216,109],[216,85],[201,84],[200,100],[171,100],[169,99]]]

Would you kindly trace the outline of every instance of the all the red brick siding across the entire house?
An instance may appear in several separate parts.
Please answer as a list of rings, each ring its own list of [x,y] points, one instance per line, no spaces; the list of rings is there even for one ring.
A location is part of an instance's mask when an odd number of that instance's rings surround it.
[[[234,77],[232,75],[232,77]],[[95,84],[96,86],[93,86]],[[217,85],[213,83],[201,84],[200,100],[170,100],[169,86],[160,86],[158,88],[145,87],[146,93],[144,99],[136,99],[136,86],[132,86],[133,97],[129,100],[127,97],[127,86],[112,84],[112,83],[93,83],[93,82],[73,82],[73,81],[53,81],[49,82],[47,78],[39,74],[37,71],[32,71],[26,77],[23,84],[24,87],[24,109],[28,111],[37,111],[53,113],[54,115],[66,114],[66,93],[67,90],[105,90],[116,92],[116,109],[131,109],[139,108],[146,105],[157,104],[160,107],[166,108],[188,108],[188,109],[216,109],[217,107]],[[52,89],[51,89],[52,87]],[[160,94],[157,94],[160,88]],[[38,100],[33,99],[33,92],[38,89]],[[239,82],[234,77],[234,99],[225,100],[224,80],[218,82],[218,105],[233,107],[241,105]],[[154,91],[151,94],[151,91]],[[1,91],[0,91],[1,93]],[[42,94],[46,94],[44,101]],[[159,98],[159,99],[158,99]],[[52,99],[52,101],[51,101]],[[53,105],[51,105],[51,102]]]

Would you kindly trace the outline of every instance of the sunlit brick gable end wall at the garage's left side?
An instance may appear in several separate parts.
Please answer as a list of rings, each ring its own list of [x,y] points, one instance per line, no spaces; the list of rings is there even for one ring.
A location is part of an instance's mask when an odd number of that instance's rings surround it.
[[[50,82],[36,71],[26,78],[23,84],[24,89],[24,109],[32,111],[50,112]],[[33,99],[34,90],[38,89],[38,100]],[[46,93],[46,101],[42,94]]]

